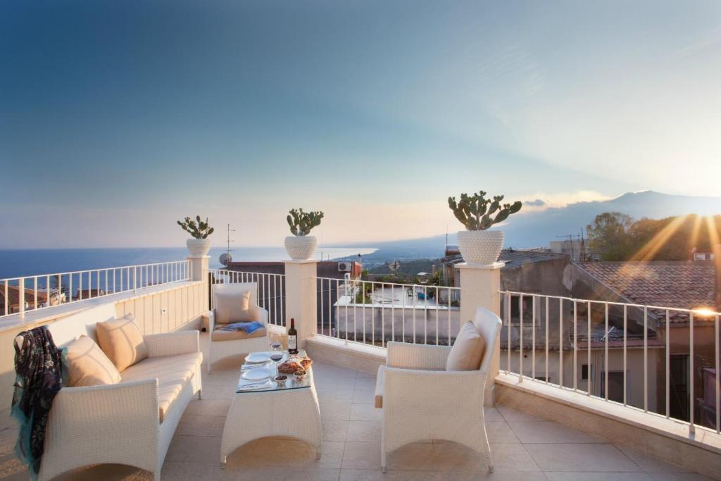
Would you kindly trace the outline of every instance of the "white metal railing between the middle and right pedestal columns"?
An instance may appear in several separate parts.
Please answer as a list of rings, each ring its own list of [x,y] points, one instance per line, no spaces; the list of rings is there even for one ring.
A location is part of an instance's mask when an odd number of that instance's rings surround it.
[[[460,288],[316,279],[319,335],[385,347],[389,340],[449,345],[460,327]]]

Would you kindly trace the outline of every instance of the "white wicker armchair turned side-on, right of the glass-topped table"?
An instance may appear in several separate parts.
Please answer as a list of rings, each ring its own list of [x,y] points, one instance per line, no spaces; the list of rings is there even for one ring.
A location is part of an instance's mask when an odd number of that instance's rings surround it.
[[[388,343],[386,366],[378,371],[376,407],[383,408],[381,466],[395,449],[416,441],[443,439],[493,459],[483,418],[483,394],[500,319],[479,308],[474,325],[486,347],[477,371],[446,371],[448,346]]]

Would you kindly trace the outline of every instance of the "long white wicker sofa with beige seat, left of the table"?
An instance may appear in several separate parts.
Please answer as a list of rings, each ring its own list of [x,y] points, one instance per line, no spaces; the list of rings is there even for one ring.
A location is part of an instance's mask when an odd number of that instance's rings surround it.
[[[80,335],[97,341],[95,325],[115,319],[112,303],[48,325],[58,347]],[[198,331],[144,336],[149,357],[120,373],[118,384],[63,387],[45,429],[40,480],[91,464],[128,464],[160,480],[175,428],[202,389]]]

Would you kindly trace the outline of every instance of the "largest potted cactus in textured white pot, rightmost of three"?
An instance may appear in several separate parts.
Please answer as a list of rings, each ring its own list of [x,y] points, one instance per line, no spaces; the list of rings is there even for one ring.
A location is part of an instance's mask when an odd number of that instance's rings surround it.
[[[461,194],[458,202],[455,197],[448,198],[448,207],[466,226],[465,231],[458,233],[458,247],[463,260],[469,265],[488,265],[498,260],[503,249],[503,231],[487,229],[521,210],[520,201],[501,204],[503,195],[495,195],[493,200],[485,198],[485,195],[481,190],[473,195]]]

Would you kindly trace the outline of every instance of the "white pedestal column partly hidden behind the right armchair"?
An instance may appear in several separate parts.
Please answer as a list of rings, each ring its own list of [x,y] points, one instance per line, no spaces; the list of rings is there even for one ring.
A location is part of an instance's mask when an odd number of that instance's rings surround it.
[[[490,265],[456,265],[461,275],[461,322],[471,321],[477,307],[485,307],[500,317],[500,268],[504,262]],[[486,383],[485,405],[495,404],[495,376],[500,363],[500,342],[496,343]]]

